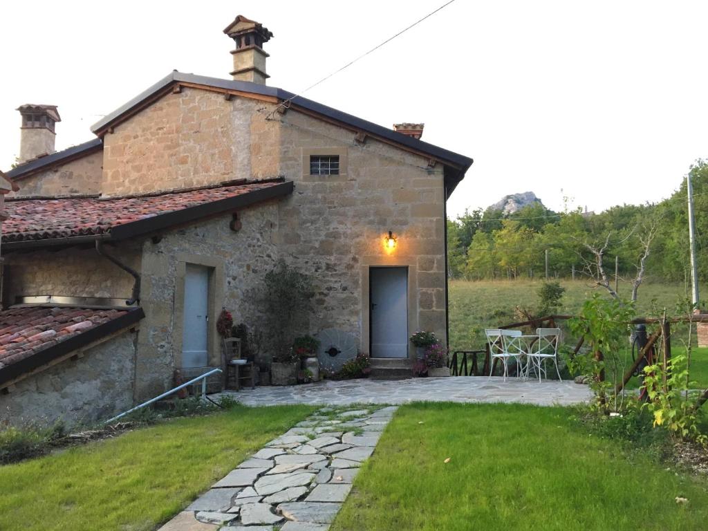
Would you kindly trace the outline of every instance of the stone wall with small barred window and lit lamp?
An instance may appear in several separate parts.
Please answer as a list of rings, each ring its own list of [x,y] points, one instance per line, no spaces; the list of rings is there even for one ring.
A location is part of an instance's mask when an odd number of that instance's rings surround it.
[[[280,173],[295,181],[282,202],[278,243],[288,261],[313,273],[318,295],[311,333],[336,327],[368,350],[368,270],[409,268],[409,331],[445,338],[445,219],[442,165],[335,125],[288,111]],[[310,176],[309,155],[339,154],[338,176]],[[384,236],[397,238],[394,251]]]

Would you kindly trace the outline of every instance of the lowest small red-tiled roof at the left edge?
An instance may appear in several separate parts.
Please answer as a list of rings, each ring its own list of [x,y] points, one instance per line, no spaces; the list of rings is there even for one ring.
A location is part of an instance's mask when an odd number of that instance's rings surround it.
[[[0,370],[130,312],[25,307],[0,311]]]

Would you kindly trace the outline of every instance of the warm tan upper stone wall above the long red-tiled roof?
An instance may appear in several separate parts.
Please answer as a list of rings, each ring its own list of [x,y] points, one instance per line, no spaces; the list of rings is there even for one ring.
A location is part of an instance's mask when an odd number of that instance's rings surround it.
[[[183,88],[115,127],[103,142],[103,193],[275,177],[278,122],[263,102]]]

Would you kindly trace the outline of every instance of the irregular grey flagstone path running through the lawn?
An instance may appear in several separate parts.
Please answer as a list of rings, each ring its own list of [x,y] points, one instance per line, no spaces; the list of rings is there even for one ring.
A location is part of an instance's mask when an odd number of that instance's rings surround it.
[[[159,531],[326,531],[396,406],[325,407],[268,442]]]

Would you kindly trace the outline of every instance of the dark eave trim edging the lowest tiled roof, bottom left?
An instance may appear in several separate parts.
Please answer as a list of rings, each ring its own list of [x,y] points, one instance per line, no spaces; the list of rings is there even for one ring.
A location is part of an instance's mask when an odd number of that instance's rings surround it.
[[[9,382],[17,377],[22,376],[25,372],[30,372],[32,370],[42,367],[42,365],[47,365],[47,363],[52,362],[57,358],[61,358],[63,355],[74,352],[74,350],[79,350],[84,348],[95,341],[100,340],[105,336],[110,336],[110,334],[118,332],[122,329],[126,329],[129,326],[137,323],[140,319],[145,316],[142,308],[137,308],[130,310],[127,314],[115,319],[111,319],[107,323],[99,324],[94,326],[92,329],[81,332],[76,336],[72,336],[64,341],[40,350],[38,353],[30,355],[28,358],[19,360],[7,367],[0,369],[0,387],[5,382]]]

